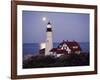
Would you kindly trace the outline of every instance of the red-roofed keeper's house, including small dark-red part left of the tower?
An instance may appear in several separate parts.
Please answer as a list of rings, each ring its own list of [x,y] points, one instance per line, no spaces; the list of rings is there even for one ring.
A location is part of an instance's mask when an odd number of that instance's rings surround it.
[[[44,54],[45,48],[40,50],[40,54]],[[50,52],[52,55],[56,57],[60,57],[61,55],[65,54],[80,54],[82,51],[80,45],[75,40],[73,41],[65,41],[63,40],[57,48],[52,48]]]

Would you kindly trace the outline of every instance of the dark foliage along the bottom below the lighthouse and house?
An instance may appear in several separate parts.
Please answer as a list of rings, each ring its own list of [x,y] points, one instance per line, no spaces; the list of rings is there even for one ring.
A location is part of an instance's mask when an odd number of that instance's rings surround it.
[[[23,61],[23,68],[44,68],[89,65],[89,54],[67,54],[60,57],[37,55]]]

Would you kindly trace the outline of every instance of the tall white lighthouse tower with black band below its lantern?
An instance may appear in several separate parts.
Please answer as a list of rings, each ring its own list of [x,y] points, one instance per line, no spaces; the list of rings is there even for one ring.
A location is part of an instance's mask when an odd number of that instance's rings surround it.
[[[52,55],[50,50],[53,48],[53,40],[52,40],[52,26],[51,23],[47,23],[46,29],[46,48],[45,48],[45,55]]]

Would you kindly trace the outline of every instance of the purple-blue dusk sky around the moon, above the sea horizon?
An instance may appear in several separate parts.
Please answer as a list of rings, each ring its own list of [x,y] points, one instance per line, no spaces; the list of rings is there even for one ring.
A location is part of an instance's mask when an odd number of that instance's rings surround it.
[[[46,21],[43,21],[43,17]],[[23,11],[23,43],[45,42],[48,21],[52,25],[53,42],[63,40],[89,42],[89,14]]]

